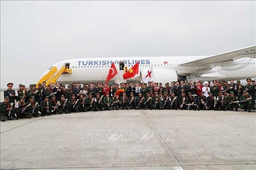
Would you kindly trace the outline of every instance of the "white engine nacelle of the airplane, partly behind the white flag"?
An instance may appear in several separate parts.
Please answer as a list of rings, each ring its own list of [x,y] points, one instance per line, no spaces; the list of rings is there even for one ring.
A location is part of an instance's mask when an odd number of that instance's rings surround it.
[[[144,82],[143,77],[147,73],[148,69],[143,69],[140,71],[140,81]],[[172,82],[177,80],[177,73],[173,69],[163,69],[163,68],[153,68],[154,72],[154,82],[161,82],[165,84],[166,82]],[[147,82],[146,82],[147,83]]]

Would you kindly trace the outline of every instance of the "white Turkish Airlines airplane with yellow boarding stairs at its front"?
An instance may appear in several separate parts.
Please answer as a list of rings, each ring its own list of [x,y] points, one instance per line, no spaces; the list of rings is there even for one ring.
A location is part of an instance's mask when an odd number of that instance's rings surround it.
[[[109,68],[115,63],[118,75],[109,81],[126,82],[122,79],[124,68],[131,68],[139,62],[139,74],[130,81],[143,82],[150,65],[153,65],[155,82],[180,80],[240,80],[256,77],[256,46],[236,49],[211,56],[174,56],[174,57],[104,57],[76,58],[53,64],[37,82],[46,85],[72,82],[104,82]]]

